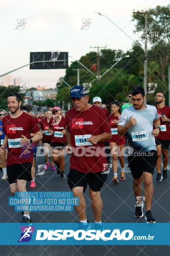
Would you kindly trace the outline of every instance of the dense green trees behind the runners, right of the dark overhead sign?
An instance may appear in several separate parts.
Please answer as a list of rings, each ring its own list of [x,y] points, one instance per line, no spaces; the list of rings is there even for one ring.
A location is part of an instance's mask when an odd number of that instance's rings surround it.
[[[159,40],[170,31],[170,4],[168,6],[156,6],[155,9],[149,9],[149,12],[160,12],[159,15],[153,14],[148,16],[148,24],[152,25],[152,31],[159,32],[159,37],[153,38],[153,43]],[[136,25],[144,24],[144,16],[141,14],[133,14],[133,20]],[[134,29],[136,30],[136,28]],[[142,38],[141,38],[142,39]],[[141,41],[142,43],[142,41]],[[138,44],[140,44],[138,42]],[[140,44],[141,45],[141,44]],[[149,44],[152,46],[152,43]],[[129,58],[123,58],[115,67],[108,71],[102,79],[92,82],[92,87],[89,92],[90,102],[94,96],[100,96],[102,102],[110,104],[114,99],[118,99],[120,103],[127,100],[128,93],[137,85],[143,86],[144,76],[144,50],[139,45],[133,43],[132,49],[125,52],[125,55],[130,55]],[[148,83],[157,83],[157,91],[164,91],[168,95],[168,66],[170,55],[170,34],[165,36],[159,43],[148,50],[147,62],[147,81]],[[115,62],[113,49],[102,49],[99,54],[100,75],[102,75]],[[92,64],[97,64],[96,52],[89,52],[82,56],[79,60],[88,69],[91,69]],[[81,68],[77,62],[72,62],[68,67],[66,75],[63,78],[70,87],[77,85],[77,71],[73,69]],[[80,71],[80,85],[90,83],[96,78],[97,71],[93,71],[94,76],[87,70]],[[70,87],[65,83],[57,84],[58,94],[57,100],[68,101],[70,96]],[[148,103],[154,104],[155,99],[153,94],[148,94]],[[166,104],[168,105],[168,97],[166,96]]]

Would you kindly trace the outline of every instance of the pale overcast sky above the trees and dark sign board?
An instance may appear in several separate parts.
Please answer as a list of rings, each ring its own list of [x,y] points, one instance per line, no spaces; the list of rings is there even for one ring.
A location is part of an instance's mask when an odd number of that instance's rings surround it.
[[[135,39],[135,11],[148,10],[158,5],[167,6],[169,0],[1,0],[0,8],[0,75],[29,63],[30,52],[68,52],[68,63],[90,52],[90,47],[132,48]],[[112,20],[117,28],[100,12]],[[24,29],[16,29],[17,19],[26,19]],[[91,19],[88,29],[81,29],[82,19]],[[136,38],[137,39],[137,38]],[[54,88],[65,69],[29,70],[29,66],[11,73],[21,77],[29,87],[46,85]],[[0,78],[0,81],[2,77]]]

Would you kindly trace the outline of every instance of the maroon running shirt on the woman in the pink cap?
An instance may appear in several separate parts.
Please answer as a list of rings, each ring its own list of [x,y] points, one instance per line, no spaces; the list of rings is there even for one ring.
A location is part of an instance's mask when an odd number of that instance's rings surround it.
[[[67,142],[65,134],[62,135],[61,132],[66,128],[66,119],[65,117],[61,117],[61,121],[58,123],[55,122],[53,117],[50,119],[49,122],[51,130],[54,131],[54,134],[50,136],[50,142],[55,142],[55,143],[65,143]],[[60,137],[63,136],[63,137]]]

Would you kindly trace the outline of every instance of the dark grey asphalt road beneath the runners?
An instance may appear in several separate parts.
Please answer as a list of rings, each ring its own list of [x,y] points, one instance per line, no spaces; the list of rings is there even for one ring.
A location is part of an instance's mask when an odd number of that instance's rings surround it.
[[[65,174],[69,172],[69,156],[65,157]],[[37,165],[44,164],[44,157],[38,157]],[[110,172],[108,178],[101,189],[103,200],[102,222],[139,222],[142,219],[134,218],[135,198],[132,189],[132,175],[127,167],[127,158],[125,157],[126,180],[119,184],[112,183],[113,174]],[[170,166],[168,166],[170,167]],[[138,168],[138,166],[136,166]],[[37,167],[36,167],[37,173]],[[120,177],[120,168],[118,169]],[[2,175],[2,172],[0,172]],[[44,175],[36,175],[35,189],[29,188],[30,182],[27,182],[27,191],[69,191],[67,178],[60,179],[56,172],[51,171],[49,167]],[[154,198],[152,213],[156,222],[170,222],[170,172],[167,180],[156,181],[156,172],[153,175]],[[8,182],[0,180],[0,222],[20,222],[20,212],[15,212],[14,207],[8,206],[8,198],[11,196]],[[91,210],[91,201],[88,188],[85,192],[86,212],[89,222],[94,222],[93,212]],[[77,212],[32,212],[33,222],[75,222],[78,221]],[[0,256],[159,256],[162,254],[170,255],[170,246],[89,246],[89,245],[8,245],[0,246]]]

